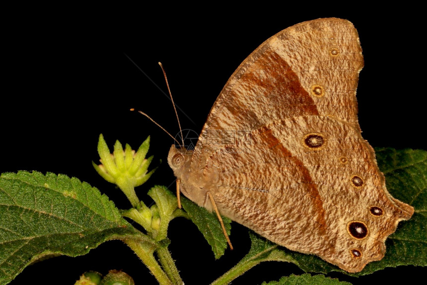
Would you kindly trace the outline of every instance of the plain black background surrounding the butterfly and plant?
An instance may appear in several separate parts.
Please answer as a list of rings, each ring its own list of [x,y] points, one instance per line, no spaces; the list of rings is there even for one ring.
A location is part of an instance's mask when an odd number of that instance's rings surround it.
[[[0,104],[0,172],[64,173],[97,187],[126,209],[130,204],[124,195],[103,181],[91,165],[91,160],[99,159],[98,136],[104,134],[110,147],[118,139],[137,148],[150,135],[152,166],[159,168],[137,189],[149,205],[145,192],[151,186],[175,187],[166,162],[173,141],[129,109],[149,114],[172,135],[178,132],[157,62],[163,63],[175,103],[182,110],[181,125],[199,133],[228,77],[255,48],[288,26],[319,17],[347,18],[358,30],[365,61],[357,89],[363,138],[372,146],[426,149],[421,135],[426,122],[425,24],[417,7],[388,7],[387,12],[369,6],[358,11],[350,7],[321,11],[267,4],[245,9],[165,8],[128,7],[114,13],[94,10],[84,14],[83,7],[75,13],[62,8],[53,15],[29,7],[26,13],[16,13],[4,27],[2,41],[6,75]],[[214,281],[250,246],[247,231],[236,223],[231,234],[235,250],[227,250],[217,261],[191,222],[173,220],[169,237],[172,256],[187,285]],[[84,271],[105,274],[109,269],[123,269],[136,284],[156,284],[120,241],[106,242],[86,256],[37,263],[10,284],[30,280],[73,284]],[[292,264],[269,262],[233,284],[261,284],[291,273],[302,271]],[[369,284],[421,275],[422,268],[407,266],[358,279],[330,276]]]

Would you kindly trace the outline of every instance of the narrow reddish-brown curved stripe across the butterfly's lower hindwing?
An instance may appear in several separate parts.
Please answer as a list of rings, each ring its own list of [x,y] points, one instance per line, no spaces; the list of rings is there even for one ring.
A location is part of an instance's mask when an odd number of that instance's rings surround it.
[[[260,137],[257,140],[266,144],[266,146],[271,149],[277,157],[289,157],[291,161],[294,162],[294,166],[297,167],[297,171],[304,178],[304,185],[306,186],[305,191],[313,199],[313,207],[317,213],[316,222],[320,226],[320,231],[322,234],[326,233],[326,220],[325,220],[325,210],[323,209],[323,201],[317,190],[316,183],[311,179],[310,172],[303,165],[302,161],[292,155],[292,153],[285,148],[281,141],[273,134],[273,131],[267,126],[260,129]]]

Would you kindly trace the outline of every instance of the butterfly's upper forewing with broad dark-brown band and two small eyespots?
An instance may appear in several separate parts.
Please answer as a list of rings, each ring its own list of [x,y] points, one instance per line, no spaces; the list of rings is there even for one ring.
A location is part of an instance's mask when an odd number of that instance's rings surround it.
[[[201,132],[193,163],[204,164],[230,137],[285,118],[328,115],[358,128],[356,86],[362,66],[357,32],[347,20],[318,19],[279,32],[225,84]]]

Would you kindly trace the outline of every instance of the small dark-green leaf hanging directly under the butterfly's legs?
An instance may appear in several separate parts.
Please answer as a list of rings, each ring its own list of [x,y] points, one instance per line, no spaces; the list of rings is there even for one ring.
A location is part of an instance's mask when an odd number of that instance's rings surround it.
[[[205,236],[205,239],[211,245],[215,259],[220,258],[224,254],[228,244],[216,214],[210,213],[203,207],[197,206],[183,196],[181,196],[181,204],[189,218],[196,224]],[[229,235],[231,230],[231,219],[222,216],[222,221]]]

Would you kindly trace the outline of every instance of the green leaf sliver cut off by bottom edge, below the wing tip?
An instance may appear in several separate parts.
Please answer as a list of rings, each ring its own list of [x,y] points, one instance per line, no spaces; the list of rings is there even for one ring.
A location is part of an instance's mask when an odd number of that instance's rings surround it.
[[[288,277],[282,277],[279,281],[272,281],[269,283],[263,282],[262,285],[351,285],[348,282],[340,282],[338,279],[332,279],[323,275],[311,276],[310,274],[303,274],[300,276],[290,275]]]

